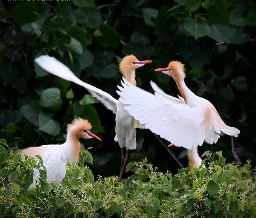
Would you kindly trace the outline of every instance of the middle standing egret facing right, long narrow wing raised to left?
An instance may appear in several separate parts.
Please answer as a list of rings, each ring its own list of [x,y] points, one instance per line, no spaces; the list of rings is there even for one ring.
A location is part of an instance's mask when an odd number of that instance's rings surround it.
[[[121,166],[119,172],[119,180],[122,179],[122,174],[125,169],[125,165],[128,161],[128,150],[136,149],[136,128],[143,128],[143,125],[137,120],[128,114],[128,112],[123,108],[124,105],[119,100],[113,98],[108,93],[98,89],[94,86],[91,86],[87,83],[81,81],[73,72],[65,66],[60,61],[56,60],[54,57],[48,55],[42,55],[35,59],[35,62],[38,63],[43,69],[48,72],[61,77],[65,80],[72,81],[74,83],[83,86],[87,89],[90,94],[98,99],[103,105],[110,109],[114,114],[116,114],[116,136],[115,141],[118,141],[121,148]],[[145,65],[145,63],[152,63],[151,60],[138,60],[134,55],[125,56],[119,64],[119,69],[122,72],[125,79],[136,86],[135,80],[135,70],[139,67]],[[124,155],[123,148],[126,148],[126,154]]]

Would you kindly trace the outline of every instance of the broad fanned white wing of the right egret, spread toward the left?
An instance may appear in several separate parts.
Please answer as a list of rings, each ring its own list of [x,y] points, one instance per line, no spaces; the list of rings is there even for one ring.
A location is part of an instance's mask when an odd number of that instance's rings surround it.
[[[158,92],[153,95],[124,81],[124,88],[118,86],[121,92],[117,93],[123,97],[120,101],[145,128],[175,146],[191,149],[203,144],[205,129],[201,125],[204,118],[201,106],[190,108],[179,99],[166,98]]]

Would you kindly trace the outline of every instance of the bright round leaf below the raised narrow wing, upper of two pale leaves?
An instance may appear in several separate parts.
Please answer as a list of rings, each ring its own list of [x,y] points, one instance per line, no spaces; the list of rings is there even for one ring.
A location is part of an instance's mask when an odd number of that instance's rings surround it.
[[[62,105],[61,92],[57,88],[49,88],[41,94],[40,104],[52,111],[58,111]]]

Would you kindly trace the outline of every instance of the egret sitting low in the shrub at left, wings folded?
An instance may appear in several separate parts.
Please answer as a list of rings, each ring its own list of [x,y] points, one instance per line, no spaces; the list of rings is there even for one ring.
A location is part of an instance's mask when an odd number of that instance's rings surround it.
[[[51,183],[54,178],[62,181],[66,174],[67,164],[78,162],[81,149],[79,138],[96,138],[101,141],[98,136],[90,132],[91,128],[92,125],[87,120],[76,118],[72,123],[67,124],[67,140],[63,144],[29,147],[21,150],[20,154],[31,157],[40,155],[47,169],[47,181]],[[31,186],[38,184],[39,178],[39,171],[35,169]]]

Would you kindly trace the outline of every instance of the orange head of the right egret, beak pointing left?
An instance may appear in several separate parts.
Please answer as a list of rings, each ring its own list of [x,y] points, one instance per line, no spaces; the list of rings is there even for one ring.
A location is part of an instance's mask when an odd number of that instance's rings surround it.
[[[156,72],[162,72],[171,76],[172,78],[176,79],[184,79],[186,77],[184,64],[180,61],[173,60],[169,63],[168,67],[166,68],[157,68],[155,69]]]

